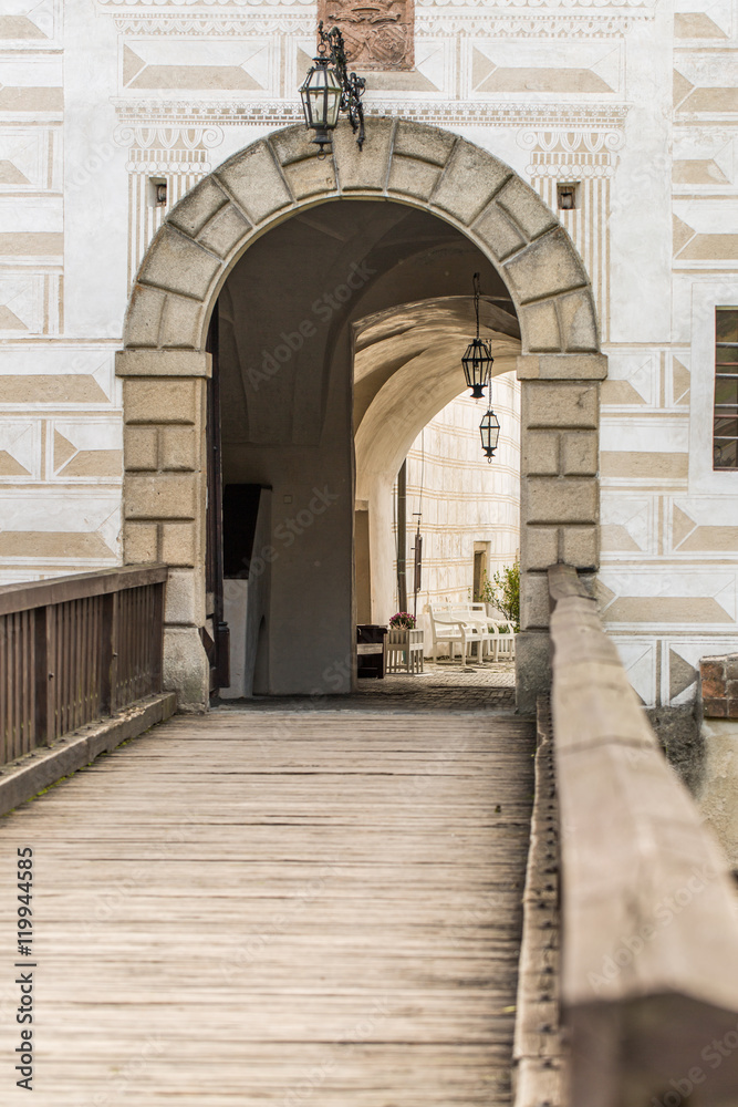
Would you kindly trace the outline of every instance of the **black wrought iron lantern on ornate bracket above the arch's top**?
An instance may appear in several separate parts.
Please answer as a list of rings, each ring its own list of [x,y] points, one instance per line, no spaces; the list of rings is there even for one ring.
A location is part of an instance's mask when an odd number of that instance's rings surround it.
[[[346,112],[354,134],[358,132],[358,148],[364,143],[364,107],[361,97],[366,82],[346,70],[346,50],[343,35],[337,27],[323,30],[323,21],[318,24],[320,41],[318,55],[313,58],[300,95],[305,125],[315,132],[312,142],[318,146],[318,156],[325,157],[331,148],[331,132],[339,122],[339,113]]]

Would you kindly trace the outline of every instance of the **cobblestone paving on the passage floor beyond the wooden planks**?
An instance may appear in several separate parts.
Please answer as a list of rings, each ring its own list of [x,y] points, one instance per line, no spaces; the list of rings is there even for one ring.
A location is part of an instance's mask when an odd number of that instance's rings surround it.
[[[384,680],[358,682],[350,695],[254,696],[219,700],[225,711],[514,711],[514,663],[486,663],[462,668],[460,662],[432,664],[407,676],[393,673]]]

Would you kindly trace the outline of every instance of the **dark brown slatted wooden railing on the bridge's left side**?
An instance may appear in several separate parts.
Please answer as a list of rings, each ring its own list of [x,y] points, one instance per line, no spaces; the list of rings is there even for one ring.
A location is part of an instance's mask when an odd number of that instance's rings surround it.
[[[162,691],[166,566],[0,588],[0,764]]]

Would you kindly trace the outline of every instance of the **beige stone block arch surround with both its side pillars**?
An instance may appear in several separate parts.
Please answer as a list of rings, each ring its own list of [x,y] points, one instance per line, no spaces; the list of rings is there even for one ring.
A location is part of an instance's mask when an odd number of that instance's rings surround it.
[[[165,679],[202,708],[206,625],[206,338],[218,293],[243,251],[326,200],[394,200],[462,231],[505,280],[521,330],[521,629],[519,702],[548,682],[544,570],[599,558],[599,382],[606,375],[586,271],[538,194],[458,135],[372,120],[362,152],[349,128],[319,161],[302,126],[260,139],[200,182],[169,214],[141,267],[116,360],[124,379],[124,560],[171,566]]]

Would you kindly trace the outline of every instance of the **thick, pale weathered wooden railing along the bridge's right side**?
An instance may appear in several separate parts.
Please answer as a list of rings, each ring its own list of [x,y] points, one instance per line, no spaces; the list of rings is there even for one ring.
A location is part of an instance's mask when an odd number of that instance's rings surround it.
[[[576,571],[551,567],[549,586],[570,1105],[738,1103],[727,861]]]

